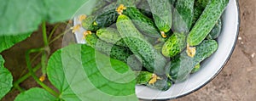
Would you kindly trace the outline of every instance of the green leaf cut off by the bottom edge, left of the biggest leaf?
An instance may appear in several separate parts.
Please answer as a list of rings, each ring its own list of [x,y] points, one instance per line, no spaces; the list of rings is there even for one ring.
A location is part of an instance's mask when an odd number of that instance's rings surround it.
[[[44,89],[35,87],[24,93],[20,93],[15,98],[15,101],[55,101],[56,99]]]

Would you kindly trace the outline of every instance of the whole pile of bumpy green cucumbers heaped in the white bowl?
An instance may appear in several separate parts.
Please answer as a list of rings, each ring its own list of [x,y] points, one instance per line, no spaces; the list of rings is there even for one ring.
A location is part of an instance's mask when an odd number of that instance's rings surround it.
[[[137,84],[162,91],[185,81],[218,49],[229,0],[97,0],[82,21],[86,44],[119,59]]]

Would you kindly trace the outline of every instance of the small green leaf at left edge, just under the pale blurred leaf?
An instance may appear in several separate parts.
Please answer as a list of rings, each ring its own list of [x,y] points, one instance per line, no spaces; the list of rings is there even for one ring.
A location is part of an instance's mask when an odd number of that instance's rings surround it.
[[[20,35],[10,35],[10,36],[0,36],[0,53],[8,48],[11,48],[17,42],[25,40],[31,33],[20,34]]]

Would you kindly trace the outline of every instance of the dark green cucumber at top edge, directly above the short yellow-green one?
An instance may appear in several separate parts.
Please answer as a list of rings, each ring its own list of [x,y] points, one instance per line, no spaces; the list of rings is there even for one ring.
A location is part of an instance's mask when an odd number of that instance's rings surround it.
[[[173,15],[173,30],[189,32],[194,15],[195,0],[177,0]]]

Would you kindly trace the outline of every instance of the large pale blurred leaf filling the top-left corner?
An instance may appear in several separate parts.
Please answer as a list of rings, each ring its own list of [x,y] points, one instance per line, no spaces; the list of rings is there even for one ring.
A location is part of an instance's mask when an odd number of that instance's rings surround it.
[[[0,36],[36,31],[43,20],[51,23],[69,20],[87,1],[0,0]]]

